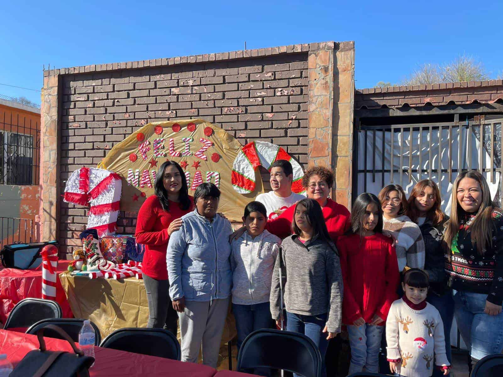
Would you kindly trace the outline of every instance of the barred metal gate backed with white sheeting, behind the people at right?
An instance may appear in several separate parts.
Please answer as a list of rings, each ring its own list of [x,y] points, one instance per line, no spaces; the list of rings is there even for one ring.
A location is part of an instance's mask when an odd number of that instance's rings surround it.
[[[363,192],[377,195],[389,183],[400,184],[408,195],[417,181],[431,178],[449,212],[454,179],[476,169],[501,203],[502,122],[503,115],[493,114],[461,116],[455,122],[361,125],[354,198]]]

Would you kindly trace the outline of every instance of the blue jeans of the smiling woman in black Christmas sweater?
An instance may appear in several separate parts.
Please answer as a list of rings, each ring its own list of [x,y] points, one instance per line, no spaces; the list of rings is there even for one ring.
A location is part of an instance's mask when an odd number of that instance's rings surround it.
[[[503,351],[503,313],[485,314],[486,298],[487,295],[471,292],[454,295],[459,332],[470,349],[470,356],[477,360]]]

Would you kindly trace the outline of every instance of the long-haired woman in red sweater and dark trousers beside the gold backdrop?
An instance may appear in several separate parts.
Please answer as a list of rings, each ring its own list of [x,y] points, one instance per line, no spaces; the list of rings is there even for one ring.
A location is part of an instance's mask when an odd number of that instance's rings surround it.
[[[177,335],[178,314],[173,309],[167,279],[166,250],[171,234],[180,229],[193,200],[184,171],[166,161],[155,178],[155,195],[145,200],[136,221],[136,242],[145,245],[142,272],[148,300],[147,327],[163,327]]]

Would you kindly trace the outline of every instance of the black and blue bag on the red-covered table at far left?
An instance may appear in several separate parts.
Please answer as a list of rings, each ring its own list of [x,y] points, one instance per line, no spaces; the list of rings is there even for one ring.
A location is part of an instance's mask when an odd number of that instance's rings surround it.
[[[18,243],[6,245],[0,251],[2,265],[8,268],[33,269],[42,263],[40,251],[45,245],[57,245],[58,241]]]

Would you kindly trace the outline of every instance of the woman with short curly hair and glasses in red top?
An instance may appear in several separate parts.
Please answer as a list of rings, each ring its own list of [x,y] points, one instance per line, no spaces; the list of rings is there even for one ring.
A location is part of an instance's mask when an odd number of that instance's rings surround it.
[[[313,166],[306,170],[302,178],[307,197],[321,206],[326,229],[332,241],[344,234],[350,227],[351,215],[346,207],[328,198],[333,185],[333,174],[326,167]],[[266,229],[281,239],[292,234],[292,219],[295,205],[285,210],[279,217],[267,222]]]

